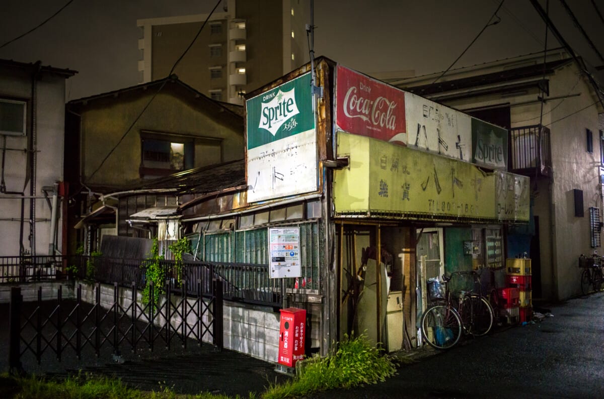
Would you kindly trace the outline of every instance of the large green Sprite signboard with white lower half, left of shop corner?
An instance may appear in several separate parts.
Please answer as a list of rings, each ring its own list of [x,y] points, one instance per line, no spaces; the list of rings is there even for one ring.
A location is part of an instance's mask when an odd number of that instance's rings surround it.
[[[248,202],[317,189],[310,73],[246,101]]]

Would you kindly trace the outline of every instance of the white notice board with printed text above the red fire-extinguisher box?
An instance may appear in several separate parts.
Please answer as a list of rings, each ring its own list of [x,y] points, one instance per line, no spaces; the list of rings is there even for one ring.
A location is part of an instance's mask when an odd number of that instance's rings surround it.
[[[268,250],[271,256],[271,278],[302,277],[300,227],[270,227]]]

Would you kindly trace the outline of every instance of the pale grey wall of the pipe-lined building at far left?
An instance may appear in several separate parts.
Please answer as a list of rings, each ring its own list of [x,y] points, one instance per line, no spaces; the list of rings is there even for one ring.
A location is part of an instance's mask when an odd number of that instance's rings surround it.
[[[23,192],[30,195],[32,174],[29,169],[28,137],[31,135],[31,77],[14,69],[11,74],[0,71],[0,98],[27,101],[27,135],[7,136],[8,150],[4,159],[4,180],[9,192]],[[33,195],[39,198],[25,200],[25,223],[22,243],[24,248],[34,254],[48,254],[50,241],[51,212],[47,201],[43,198],[42,187],[53,186],[63,180],[63,137],[65,135],[65,77],[42,74],[36,81],[36,174]],[[0,137],[0,145],[2,139]],[[15,151],[19,150],[19,151]],[[29,177],[27,177],[29,176]],[[52,194],[50,194],[52,195]],[[17,195],[0,194],[0,256],[19,255],[19,235],[21,230],[21,199]],[[34,201],[36,210],[36,248],[31,248],[28,240],[30,234],[30,201]],[[57,248],[61,247],[60,226],[61,213],[57,213],[59,234]]]

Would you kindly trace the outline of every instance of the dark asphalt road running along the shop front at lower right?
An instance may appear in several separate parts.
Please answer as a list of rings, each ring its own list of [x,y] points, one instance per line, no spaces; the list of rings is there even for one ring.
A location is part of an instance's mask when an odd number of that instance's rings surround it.
[[[553,317],[402,365],[384,383],[314,398],[603,398],[604,292],[547,306]]]

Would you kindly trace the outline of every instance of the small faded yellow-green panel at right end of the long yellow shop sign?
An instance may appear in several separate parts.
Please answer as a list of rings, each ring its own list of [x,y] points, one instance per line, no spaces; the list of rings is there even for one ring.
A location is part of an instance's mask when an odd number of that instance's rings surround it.
[[[498,219],[528,222],[530,178],[509,172],[495,175],[495,212]]]

